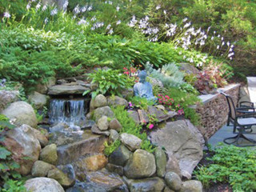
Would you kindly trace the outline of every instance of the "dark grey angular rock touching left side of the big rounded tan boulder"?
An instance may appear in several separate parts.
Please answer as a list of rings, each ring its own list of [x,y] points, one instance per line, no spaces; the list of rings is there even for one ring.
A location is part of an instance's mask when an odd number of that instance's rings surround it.
[[[126,146],[121,145],[118,149],[114,150],[112,154],[110,154],[109,162],[116,166],[125,166],[131,154],[132,153],[126,148]]]

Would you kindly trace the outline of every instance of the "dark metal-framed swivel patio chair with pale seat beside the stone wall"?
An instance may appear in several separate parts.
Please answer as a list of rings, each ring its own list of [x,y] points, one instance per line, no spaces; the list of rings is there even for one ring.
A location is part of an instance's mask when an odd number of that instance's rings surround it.
[[[252,126],[256,126],[256,113],[255,108],[251,106],[243,106],[243,104],[239,105],[239,108],[236,108],[234,106],[233,99],[227,95],[222,93],[226,97],[226,101],[229,106],[229,116],[228,116],[228,122],[227,126],[230,125],[230,122],[233,123],[233,133],[237,134],[234,137],[225,138],[223,142],[226,144],[233,144],[235,146],[255,146],[256,141],[254,141],[251,138],[246,138],[244,134],[254,134],[252,133]],[[240,138],[245,139],[248,142],[251,142],[252,144],[249,145],[239,145],[238,141]],[[229,142],[228,140],[233,140]]]

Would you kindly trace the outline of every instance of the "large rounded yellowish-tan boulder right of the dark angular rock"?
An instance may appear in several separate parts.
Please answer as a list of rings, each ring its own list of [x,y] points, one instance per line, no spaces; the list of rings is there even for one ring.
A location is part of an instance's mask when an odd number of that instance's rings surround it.
[[[155,172],[154,155],[146,150],[136,150],[124,167],[127,178],[149,178]]]

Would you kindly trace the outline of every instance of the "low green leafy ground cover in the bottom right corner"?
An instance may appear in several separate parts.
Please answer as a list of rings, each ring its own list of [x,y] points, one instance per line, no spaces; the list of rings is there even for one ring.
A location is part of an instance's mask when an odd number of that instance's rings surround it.
[[[214,156],[208,159],[213,162],[212,164],[201,166],[194,171],[195,177],[203,186],[228,182],[234,191],[256,190],[255,150],[221,145],[214,152]]]

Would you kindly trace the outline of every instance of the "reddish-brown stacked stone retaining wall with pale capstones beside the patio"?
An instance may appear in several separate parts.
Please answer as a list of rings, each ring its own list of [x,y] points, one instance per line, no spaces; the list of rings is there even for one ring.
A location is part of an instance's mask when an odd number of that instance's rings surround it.
[[[233,98],[234,104],[237,105],[239,87],[240,84],[229,85],[218,89],[218,94],[199,96],[203,104],[194,107],[202,118],[202,126],[199,126],[198,129],[206,139],[210,138],[217,130],[225,125],[227,121],[229,107],[226,98],[220,93],[224,92],[229,94]]]

